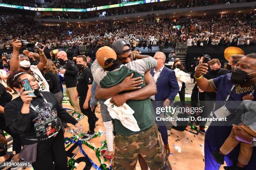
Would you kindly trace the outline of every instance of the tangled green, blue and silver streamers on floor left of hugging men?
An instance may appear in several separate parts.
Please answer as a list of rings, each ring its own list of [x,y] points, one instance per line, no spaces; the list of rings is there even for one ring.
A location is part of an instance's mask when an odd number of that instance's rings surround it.
[[[96,169],[96,170],[111,170],[111,166],[108,168],[107,165],[105,163],[102,163],[100,156],[102,156],[100,154],[101,150],[106,150],[107,147],[107,143],[106,140],[101,141],[102,146],[100,148],[96,148],[95,146],[92,146],[90,143],[88,143],[87,141],[89,141],[92,138],[96,138],[99,137],[100,135],[105,134],[104,132],[100,133],[97,132],[93,135],[88,135],[87,133],[82,133],[79,132],[79,130],[74,130],[71,127],[69,127],[69,133],[72,133],[73,136],[71,138],[64,138],[64,143],[67,145],[65,148],[69,147],[71,144],[77,144],[79,146],[80,152],[84,155],[84,157],[88,158],[92,164],[92,166]],[[100,167],[98,167],[89,157],[88,155],[84,152],[84,150],[82,149],[82,144],[87,145],[89,148],[91,148],[92,150],[95,150],[95,154],[96,157],[98,158],[99,162],[100,162]],[[77,152],[76,152],[77,153]],[[77,155],[75,153],[75,155],[71,158],[72,160],[69,160],[68,165],[70,168],[72,168],[71,170],[74,170],[76,168],[77,165],[75,165],[75,160],[74,157]],[[105,157],[104,158],[104,162],[107,161],[107,159]]]

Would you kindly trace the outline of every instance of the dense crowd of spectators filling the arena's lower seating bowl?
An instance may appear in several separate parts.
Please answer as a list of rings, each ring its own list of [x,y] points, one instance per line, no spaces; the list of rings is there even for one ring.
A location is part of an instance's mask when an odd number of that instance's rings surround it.
[[[255,45],[256,11],[247,14],[206,15],[203,17],[161,18],[128,23],[100,23],[45,26],[32,19],[2,15],[0,49],[10,49],[13,39],[32,44],[42,42],[48,48],[111,46],[125,38],[133,47],[172,46],[187,42],[188,46]],[[19,23],[13,27],[13,23]],[[174,28],[180,25],[180,28]],[[58,27],[56,29],[56,27]]]

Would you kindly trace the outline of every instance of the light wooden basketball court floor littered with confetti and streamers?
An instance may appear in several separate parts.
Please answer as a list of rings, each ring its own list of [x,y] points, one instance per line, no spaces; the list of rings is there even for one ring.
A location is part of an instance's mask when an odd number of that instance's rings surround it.
[[[15,95],[14,97],[17,97],[17,95]],[[63,103],[63,107],[73,109],[69,102]],[[96,122],[95,132],[104,132],[105,128],[100,114],[100,105],[97,106],[95,114],[97,117],[99,117],[99,120]],[[87,132],[89,130],[86,116],[82,120],[79,120],[79,123],[84,126],[84,132]],[[71,124],[68,125],[73,127],[73,125]],[[72,137],[73,134],[67,133],[67,130],[69,130],[69,128],[66,128],[64,137]],[[90,143],[90,145],[94,146],[95,148],[100,148],[102,146],[101,142],[104,140],[105,135],[100,135],[100,137],[92,138],[88,141],[88,143]],[[173,170],[204,170],[204,135],[200,133],[198,135],[195,135],[186,130],[184,132],[179,132],[172,129],[169,131],[168,141],[171,150],[171,153],[169,155],[169,161],[172,165]],[[76,153],[79,147],[74,148],[73,145],[74,144],[67,147],[66,150],[71,149],[72,153]],[[95,150],[92,150],[84,144],[82,144],[82,149],[93,161],[93,163],[100,167],[100,162],[96,157]],[[12,150],[12,148],[9,148],[9,150]],[[77,152],[77,155],[74,157],[74,160],[84,160],[82,159],[82,157],[84,157],[84,155],[79,150]],[[68,160],[69,159],[70,158],[68,157]],[[107,165],[107,167],[111,165],[110,161],[104,161],[103,157],[100,157],[100,160],[102,161],[102,163]],[[3,161],[3,157],[0,158],[0,161]],[[85,166],[86,163],[81,162],[77,165],[76,170],[84,170]],[[94,170],[95,168],[93,168],[92,166],[90,169]],[[137,163],[136,170],[140,169],[140,165],[139,163]],[[19,168],[19,170],[22,170],[22,168]],[[27,167],[26,170],[32,170],[32,168]]]

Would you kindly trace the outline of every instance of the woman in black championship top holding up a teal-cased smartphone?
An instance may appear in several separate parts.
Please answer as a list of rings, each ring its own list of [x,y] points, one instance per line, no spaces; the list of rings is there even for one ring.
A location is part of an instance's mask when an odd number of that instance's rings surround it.
[[[51,92],[39,92],[38,82],[30,73],[13,72],[7,84],[20,94],[5,105],[4,110],[7,128],[18,133],[23,144],[19,158],[33,162],[34,170],[67,170],[64,133],[59,118],[79,130],[83,130],[82,125],[62,108]],[[24,87],[28,86],[33,91],[25,91]]]

